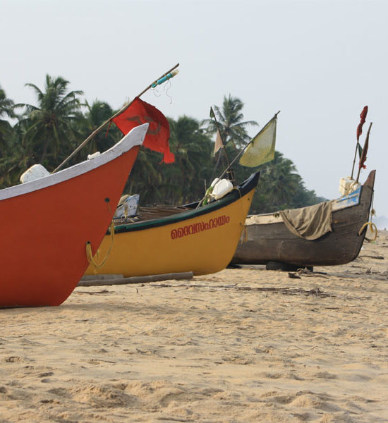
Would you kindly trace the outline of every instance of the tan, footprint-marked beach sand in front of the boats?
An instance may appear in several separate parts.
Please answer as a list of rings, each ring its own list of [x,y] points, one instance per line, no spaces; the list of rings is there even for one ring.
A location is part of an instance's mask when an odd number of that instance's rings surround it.
[[[388,422],[386,257],[1,309],[0,422]]]

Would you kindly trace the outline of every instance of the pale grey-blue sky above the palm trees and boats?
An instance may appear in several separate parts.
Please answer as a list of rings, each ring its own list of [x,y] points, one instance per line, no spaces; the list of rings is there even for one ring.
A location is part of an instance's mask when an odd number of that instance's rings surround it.
[[[61,75],[89,102],[119,108],[179,62],[172,103],[163,87],[145,101],[202,120],[230,93],[260,125],[281,110],[277,149],[329,199],[351,173],[368,105],[361,181],[377,169],[374,206],[388,216],[387,17],[384,0],[0,0],[0,85],[33,104],[25,83]]]

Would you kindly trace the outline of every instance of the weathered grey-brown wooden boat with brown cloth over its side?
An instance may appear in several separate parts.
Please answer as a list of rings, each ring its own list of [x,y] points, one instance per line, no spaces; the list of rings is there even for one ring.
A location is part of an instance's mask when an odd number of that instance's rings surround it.
[[[248,239],[238,245],[231,264],[267,264],[267,269],[293,270],[351,262],[363,245],[374,183],[375,171],[371,171],[358,190],[334,200],[331,231],[315,240],[291,233],[279,212],[248,216]]]

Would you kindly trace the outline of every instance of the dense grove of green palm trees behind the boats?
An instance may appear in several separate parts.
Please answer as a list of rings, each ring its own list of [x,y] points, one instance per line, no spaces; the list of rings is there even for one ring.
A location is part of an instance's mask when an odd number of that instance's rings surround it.
[[[49,170],[58,166],[73,149],[102,123],[114,110],[106,102],[81,102],[82,91],[69,91],[69,82],[46,75],[44,89],[26,84],[36,95],[36,104],[13,104],[0,87],[0,188],[14,185],[23,171],[40,163]],[[23,107],[19,116],[16,107]],[[243,118],[243,102],[231,94],[222,106],[214,106],[218,128],[229,158],[236,157],[249,141],[247,128],[257,125]],[[11,125],[8,118],[17,118]],[[185,204],[200,200],[212,179],[226,167],[222,149],[213,157],[214,119],[200,122],[189,116],[169,118],[170,147],[174,164],[162,163],[162,156],[142,147],[126,185],[126,192],[140,194],[140,204]],[[102,130],[70,163],[85,159],[87,154],[108,149],[121,137],[111,125]],[[303,207],[324,199],[307,190],[296,166],[280,152],[274,160],[258,168],[234,164],[234,175],[242,182],[252,171],[260,170],[260,181],[250,213],[273,212],[277,209]]]

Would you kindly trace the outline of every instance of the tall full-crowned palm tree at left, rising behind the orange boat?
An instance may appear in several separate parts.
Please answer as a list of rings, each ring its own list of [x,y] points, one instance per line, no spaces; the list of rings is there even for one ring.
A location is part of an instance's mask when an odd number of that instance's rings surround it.
[[[28,154],[32,161],[44,164],[49,161],[52,167],[66,157],[73,149],[80,135],[75,130],[79,121],[80,100],[82,91],[68,92],[69,82],[63,78],[46,75],[44,91],[34,84],[26,84],[37,94],[37,106],[25,106],[26,117],[21,120],[27,130],[23,137]]]

